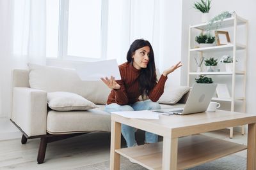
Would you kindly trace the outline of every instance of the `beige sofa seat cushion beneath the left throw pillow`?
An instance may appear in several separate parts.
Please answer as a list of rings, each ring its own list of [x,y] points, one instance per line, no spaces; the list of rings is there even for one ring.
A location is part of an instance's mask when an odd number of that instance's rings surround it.
[[[102,111],[99,108],[87,111],[51,110],[48,112],[47,132],[50,134],[96,131],[111,131],[110,113]]]

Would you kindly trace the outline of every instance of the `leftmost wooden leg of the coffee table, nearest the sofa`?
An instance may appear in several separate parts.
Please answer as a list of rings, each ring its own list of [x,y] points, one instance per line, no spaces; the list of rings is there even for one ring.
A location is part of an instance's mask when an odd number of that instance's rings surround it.
[[[110,169],[120,169],[120,155],[115,152],[121,147],[121,124],[111,121]]]

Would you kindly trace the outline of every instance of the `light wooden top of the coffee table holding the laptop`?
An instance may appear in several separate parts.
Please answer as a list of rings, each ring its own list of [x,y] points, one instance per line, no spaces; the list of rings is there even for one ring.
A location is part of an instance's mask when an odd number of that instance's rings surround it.
[[[111,120],[161,136],[179,138],[226,127],[252,124],[256,114],[216,110],[190,115],[159,115],[159,120],[124,118],[111,114]]]

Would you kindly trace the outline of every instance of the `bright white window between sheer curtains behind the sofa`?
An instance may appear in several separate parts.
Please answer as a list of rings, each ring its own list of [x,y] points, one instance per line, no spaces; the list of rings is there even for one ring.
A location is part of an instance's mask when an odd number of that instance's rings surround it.
[[[106,3],[102,0],[47,0],[47,57],[104,58],[107,25],[102,19],[108,17]]]

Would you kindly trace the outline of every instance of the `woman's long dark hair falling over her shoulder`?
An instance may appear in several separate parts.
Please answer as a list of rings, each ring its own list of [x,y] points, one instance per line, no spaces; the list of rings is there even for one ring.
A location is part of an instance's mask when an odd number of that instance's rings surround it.
[[[150,53],[148,57],[149,60],[148,60],[147,68],[141,68],[141,72],[139,76],[139,85],[140,85],[139,90],[141,92],[142,99],[145,99],[145,96],[148,96],[150,90],[152,90],[157,83],[153,48],[147,40],[136,39],[131,44],[126,57],[128,63],[132,64],[133,62],[132,55],[135,53],[136,50],[144,46],[149,46]]]

